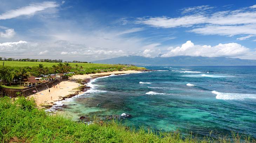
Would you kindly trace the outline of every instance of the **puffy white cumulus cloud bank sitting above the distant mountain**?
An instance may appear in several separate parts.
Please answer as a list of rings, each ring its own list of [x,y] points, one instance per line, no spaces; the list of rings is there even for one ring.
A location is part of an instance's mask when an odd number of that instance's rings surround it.
[[[246,48],[237,43],[210,45],[194,45],[191,41],[182,44],[181,47],[169,48],[169,52],[161,55],[161,57],[173,57],[178,55],[203,56],[203,57],[240,57],[251,53]]]

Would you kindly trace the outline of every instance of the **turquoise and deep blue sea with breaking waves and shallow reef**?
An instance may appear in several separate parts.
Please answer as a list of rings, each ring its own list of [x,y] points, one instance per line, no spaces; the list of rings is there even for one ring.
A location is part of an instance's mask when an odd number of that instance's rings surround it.
[[[93,89],[62,101],[64,113],[74,120],[129,113],[124,123],[134,128],[256,137],[256,66],[146,68],[158,71],[93,80]]]

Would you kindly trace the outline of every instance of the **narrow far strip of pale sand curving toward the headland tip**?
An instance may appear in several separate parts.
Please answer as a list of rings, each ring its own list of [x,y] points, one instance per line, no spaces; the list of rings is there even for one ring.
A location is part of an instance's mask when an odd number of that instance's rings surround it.
[[[141,71],[137,71],[137,70],[108,71],[106,73],[96,73],[96,74],[87,74],[87,75],[73,75],[71,78],[78,80],[78,79],[92,78],[94,76],[104,76],[104,75],[109,75],[109,74],[129,74],[129,73],[141,73]]]

